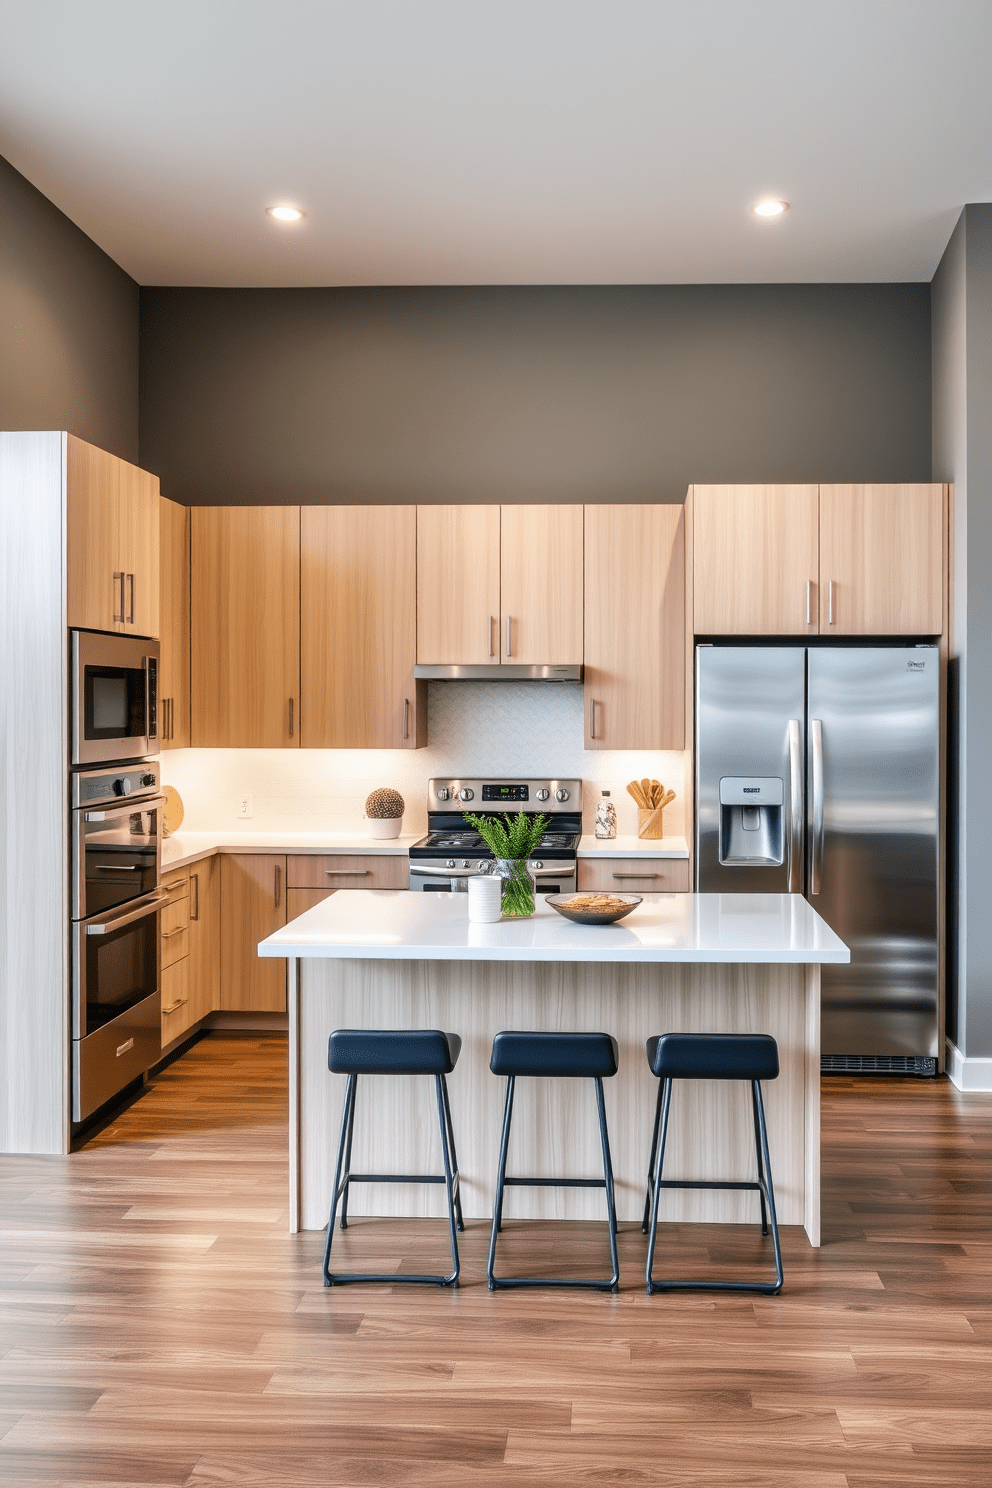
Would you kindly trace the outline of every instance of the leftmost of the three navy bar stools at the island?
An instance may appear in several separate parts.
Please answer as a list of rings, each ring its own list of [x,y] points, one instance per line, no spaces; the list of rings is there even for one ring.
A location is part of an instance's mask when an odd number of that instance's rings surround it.
[[[458,1193],[458,1156],[455,1132],[451,1125],[446,1074],[455,1068],[461,1039],[457,1033],[440,1033],[436,1028],[410,1028],[408,1031],[339,1028],[327,1040],[327,1068],[332,1074],[347,1074],[345,1104],[341,1113],[341,1138],[338,1141],[338,1164],[327,1220],[327,1244],[324,1247],[324,1286],[336,1281],[431,1281],[439,1287],[458,1286],[458,1240],[457,1229],[464,1229],[461,1196]],[[351,1138],[355,1126],[355,1097],[360,1074],[433,1074],[437,1094],[437,1125],[440,1128],[440,1152],[445,1161],[443,1176],[405,1173],[352,1173]],[[443,1183],[448,1193],[448,1229],[451,1234],[449,1277],[397,1275],[396,1272],[330,1271],[330,1242],[335,1234],[335,1214],[341,1201],[341,1228],[348,1228],[348,1189],[352,1183]]]

